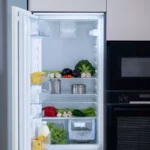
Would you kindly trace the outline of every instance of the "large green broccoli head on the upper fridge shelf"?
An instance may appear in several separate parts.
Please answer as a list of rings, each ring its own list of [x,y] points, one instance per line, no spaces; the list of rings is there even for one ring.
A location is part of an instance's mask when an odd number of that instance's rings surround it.
[[[88,72],[91,75],[94,75],[94,73],[95,73],[95,68],[92,66],[92,64],[88,60],[79,61],[76,64],[75,69],[79,70],[80,73]]]

